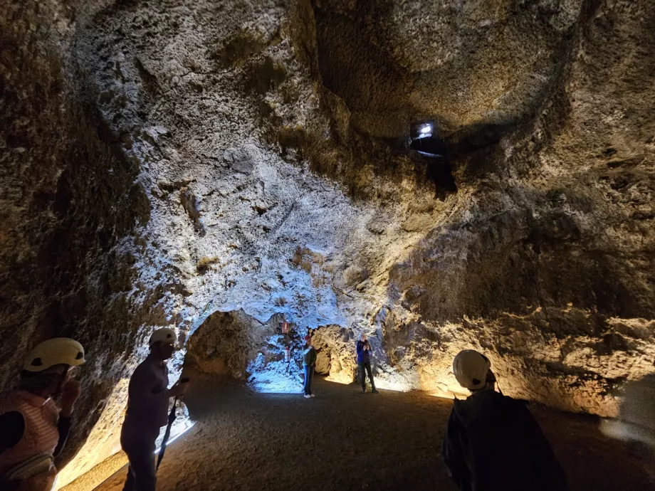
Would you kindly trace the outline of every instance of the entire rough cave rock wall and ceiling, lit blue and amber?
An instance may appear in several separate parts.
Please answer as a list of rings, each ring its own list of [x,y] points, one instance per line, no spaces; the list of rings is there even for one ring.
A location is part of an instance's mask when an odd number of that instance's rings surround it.
[[[602,415],[653,371],[652,2],[23,3],[2,382],[40,337],[88,347],[60,484],[117,449],[155,326],[256,390],[299,390],[308,329],[333,381],[365,332],[382,388],[451,395],[473,347],[506,394]],[[405,149],[424,119],[448,162]]]

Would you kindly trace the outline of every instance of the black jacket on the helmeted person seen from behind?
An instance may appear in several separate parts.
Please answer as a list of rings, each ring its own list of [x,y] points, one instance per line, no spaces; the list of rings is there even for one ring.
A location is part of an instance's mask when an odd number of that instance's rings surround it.
[[[566,476],[525,401],[480,391],[455,401],[444,462],[462,491],[566,491]]]

